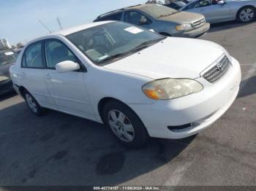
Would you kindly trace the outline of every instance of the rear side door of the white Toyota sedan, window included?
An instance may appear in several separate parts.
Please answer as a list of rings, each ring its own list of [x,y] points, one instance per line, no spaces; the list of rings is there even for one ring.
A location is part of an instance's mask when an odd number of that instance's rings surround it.
[[[43,59],[42,42],[34,42],[26,48],[23,53],[20,73],[20,85],[29,90],[41,106],[56,109],[56,105],[50,98],[45,85],[44,71],[45,61]]]

